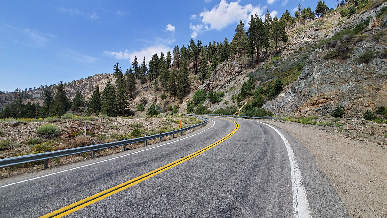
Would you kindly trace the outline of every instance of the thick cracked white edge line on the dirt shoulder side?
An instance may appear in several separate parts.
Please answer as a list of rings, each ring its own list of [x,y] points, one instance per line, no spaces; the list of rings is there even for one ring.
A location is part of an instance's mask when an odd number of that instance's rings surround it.
[[[256,121],[256,122],[262,123],[259,121]],[[278,133],[278,135],[284,141],[286,150],[288,151],[288,156],[290,161],[290,171],[291,171],[291,183],[292,183],[292,190],[293,190],[294,217],[312,218],[312,214],[310,213],[310,208],[309,208],[307,192],[305,190],[305,187],[303,186],[301,171],[300,171],[300,168],[298,167],[298,162],[296,160],[296,157],[294,156],[293,149],[291,148],[289,141],[280,131],[278,131],[273,126],[268,125],[266,123],[262,123],[262,124],[269,126],[270,128],[272,128],[274,131]]]

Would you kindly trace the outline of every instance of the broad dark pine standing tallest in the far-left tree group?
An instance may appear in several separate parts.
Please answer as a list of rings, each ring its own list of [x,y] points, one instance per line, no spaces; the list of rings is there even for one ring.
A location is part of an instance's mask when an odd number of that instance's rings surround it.
[[[66,97],[66,92],[62,81],[57,85],[57,92],[55,93],[54,100],[50,106],[49,114],[50,116],[62,116],[65,114],[68,109],[71,108],[71,103]]]

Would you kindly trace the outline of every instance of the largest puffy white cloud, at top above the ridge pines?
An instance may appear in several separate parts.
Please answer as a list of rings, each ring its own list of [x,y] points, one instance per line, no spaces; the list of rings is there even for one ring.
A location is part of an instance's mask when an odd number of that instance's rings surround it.
[[[227,3],[226,0],[221,0],[219,4],[211,10],[204,9],[204,11],[199,14],[202,23],[196,25],[190,24],[190,29],[192,30],[191,37],[196,37],[198,34],[207,30],[221,30],[230,24],[238,23],[240,20],[242,20],[245,25],[248,25],[250,16],[255,15],[256,12],[258,12],[260,16],[264,16],[260,5],[240,5],[239,3],[239,0],[230,3]],[[196,15],[191,15],[191,19],[193,18],[196,18]]]

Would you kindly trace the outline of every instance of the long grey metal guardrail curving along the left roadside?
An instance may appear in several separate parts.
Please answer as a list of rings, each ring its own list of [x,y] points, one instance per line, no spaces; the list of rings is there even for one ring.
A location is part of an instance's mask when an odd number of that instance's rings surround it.
[[[180,114],[178,114],[180,115]],[[183,114],[182,114],[183,115]],[[195,115],[190,115],[190,114],[184,114],[184,116],[193,116],[199,119],[203,119],[202,116],[195,116]],[[188,126],[186,128],[166,132],[166,133],[160,133],[156,135],[149,135],[149,136],[144,136],[140,138],[133,138],[133,139],[127,139],[127,140],[122,140],[118,142],[108,142],[108,143],[103,143],[103,144],[98,144],[98,145],[89,145],[89,146],[84,146],[84,147],[78,147],[78,148],[72,148],[72,149],[64,149],[60,151],[50,151],[50,152],[43,152],[43,153],[38,153],[38,154],[27,154],[24,156],[17,156],[17,157],[8,157],[4,159],[0,159],[0,168],[7,167],[7,166],[15,166],[18,164],[25,164],[25,163],[31,163],[31,162],[36,162],[36,161],[44,161],[43,166],[44,168],[48,167],[48,159],[56,158],[56,157],[64,157],[72,154],[81,154],[84,152],[91,152],[91,157],[94,157],[94,152],[102,149],[107,149],[111,147],[117,147],[117,146],[122,146],[123,151],[126,150],[126,145],[128,144],[133,144],[136,142],[144,142],[145,145],[147,145],[147,140],[155,139],[155,138],[160,138],[160,141],[163,141],[164,136],[168,135],[175,135],[176,133],[180,133],[182,135],[183,131],[187,131],[190,129],[197,128],[199,126],[202,126],[208,122],[207,118],[204,118],[204,121],[202,123]]]

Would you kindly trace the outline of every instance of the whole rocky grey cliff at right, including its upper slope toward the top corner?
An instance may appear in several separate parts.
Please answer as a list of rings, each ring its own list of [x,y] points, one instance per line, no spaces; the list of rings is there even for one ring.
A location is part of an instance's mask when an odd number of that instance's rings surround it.
[[[383,6],[358,14],[347,22],[365,21]],[[384,19],[378,21],[382,26]],[[345,27],[339,25],[331,32],[337,33]],[[334,41],[340,45],[350,43],[352,52],[348,59],[324,59],[335,48],[331,44],[322,45],[309,55],[298,79],[286,86],[276,99],[266,102],[264,108],[279,116],[325,116],[340,104],[349,115],[361,116],[366,109],[387,104],[385,34],[385,27],[378,27],[352,35],[353,38],[344,35],[343,38],[347,37],[344,42]],[[365,52],[373,58],[365,61]]]

